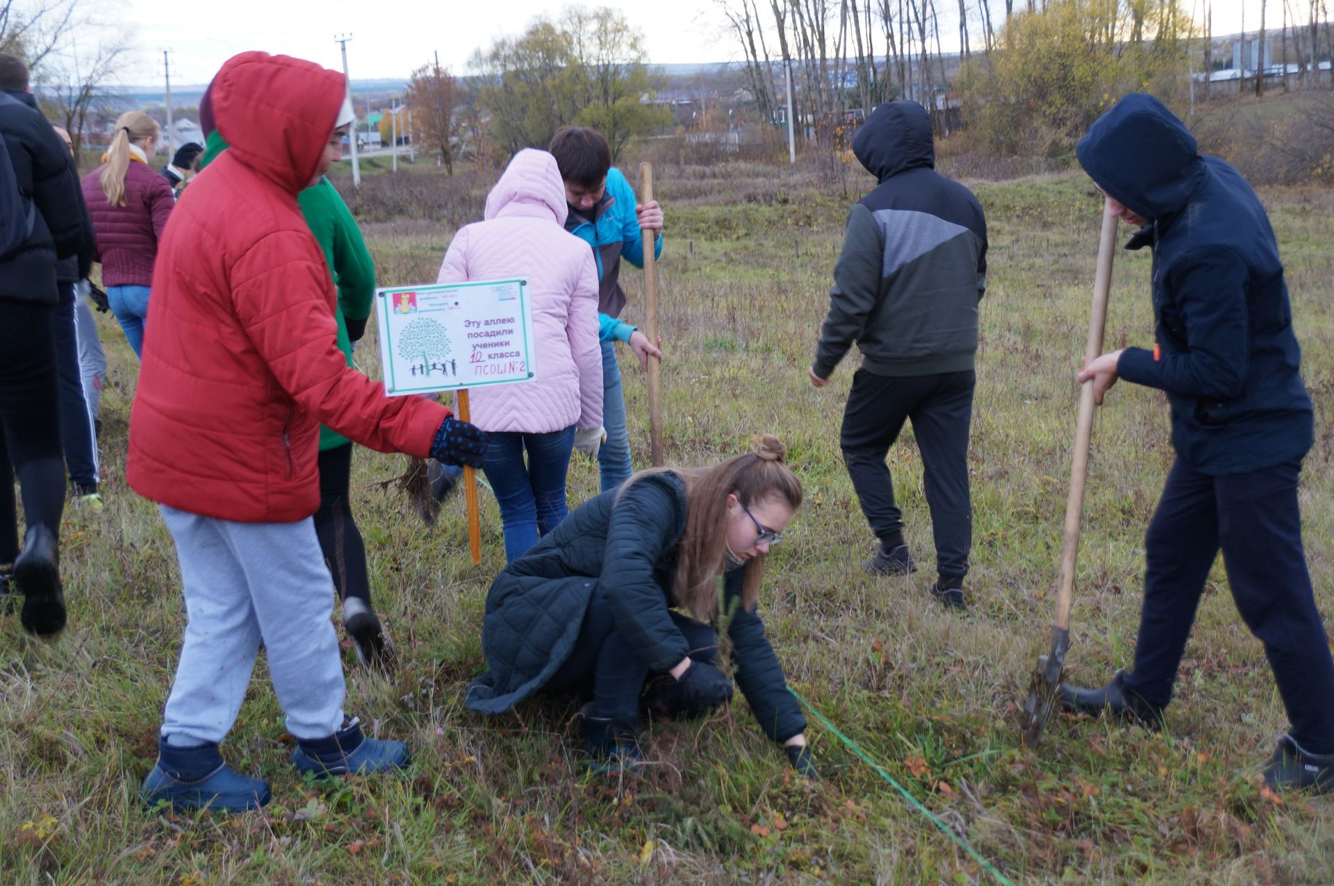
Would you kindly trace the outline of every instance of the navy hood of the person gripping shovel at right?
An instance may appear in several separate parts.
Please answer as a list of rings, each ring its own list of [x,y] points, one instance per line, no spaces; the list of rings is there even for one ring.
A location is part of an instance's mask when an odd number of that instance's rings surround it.
[[[1149,221],[1181,212],[1205,176],[1186,124],[1138,92],[1098,117],[1075,153],[1107,196]]]

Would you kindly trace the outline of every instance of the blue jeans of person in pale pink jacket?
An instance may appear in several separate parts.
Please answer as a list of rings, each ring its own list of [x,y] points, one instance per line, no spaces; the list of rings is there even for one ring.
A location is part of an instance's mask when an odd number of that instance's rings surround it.
[[[566,472],[574,448],[574,428],[546,434],[490,434],[483,472],[500,505],[507,562],[528,553],[539,536],[559,526],[570,513],[566,506]],[[528,450],[527,466],[523,464],[524,449]]]

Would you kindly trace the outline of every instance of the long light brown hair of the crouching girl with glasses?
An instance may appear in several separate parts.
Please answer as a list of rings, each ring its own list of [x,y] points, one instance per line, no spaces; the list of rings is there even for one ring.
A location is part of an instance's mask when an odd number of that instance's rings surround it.
[[[688,609],[702,621],[718,613],[718,576],[727,556],[728,494],[748,508],[772,497],[787,502],[792,510],[802,506],[802,481],[786,460],[787,446],[778,437],[764,434],[755,452],[734,456],[712,468],[658,468],[635,474],[638,480],[674,473],[686,484],[686,532],[676,542],[679,553],[671,592],[676,606]],[[764,554],[756,554],[742,585],[742,605],[747,612],[755,609],[763,580]]]

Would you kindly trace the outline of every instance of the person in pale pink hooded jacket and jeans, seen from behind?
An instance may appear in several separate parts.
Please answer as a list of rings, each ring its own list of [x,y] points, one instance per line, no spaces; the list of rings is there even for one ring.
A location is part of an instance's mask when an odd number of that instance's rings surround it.
[[[556,159],[520,151],[491,189],[486,220],[462,228],[440,265],[439,282],[528,281],[535,378],[471,392],[472,424],[490,434],[484,470],[507,561],[564,520],[575,430],[602,426],[598,268],[566,233],[566,213]]]

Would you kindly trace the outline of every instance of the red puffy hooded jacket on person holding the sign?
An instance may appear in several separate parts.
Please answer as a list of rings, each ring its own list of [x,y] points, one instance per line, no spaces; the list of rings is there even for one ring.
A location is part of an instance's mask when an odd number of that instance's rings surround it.
[[[295,522],[319,506],[320,422],[380,452],[428,454],[450,412],[384,396],[338,348],[336,294],[296,204],[347,81],[245,52],[213,80],[231,151],[171,213],[129,417],[125,478],[205,517]]]

